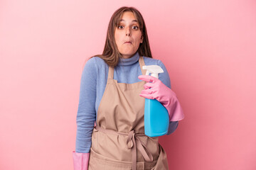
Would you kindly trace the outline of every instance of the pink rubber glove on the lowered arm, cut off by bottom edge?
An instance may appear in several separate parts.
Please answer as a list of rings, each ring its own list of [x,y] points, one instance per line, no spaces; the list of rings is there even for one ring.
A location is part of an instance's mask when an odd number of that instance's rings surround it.
[[[87,170],[90,153],[78,153],[73,151],[74,170]]]

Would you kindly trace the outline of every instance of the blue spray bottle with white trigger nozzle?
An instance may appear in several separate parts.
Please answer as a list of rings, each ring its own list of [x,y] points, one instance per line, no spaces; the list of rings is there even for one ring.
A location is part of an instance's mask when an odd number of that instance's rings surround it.
[[[146,69],[146,75],[159,78],[159,73],[164,70],[158,65],[143,66]],[[144,130],[145,135],[149,137],[158,137],[166,135],[169,128],[169,113],[166,108],[156,99],[145,98],[144,108]]]

